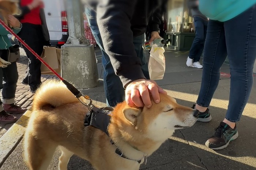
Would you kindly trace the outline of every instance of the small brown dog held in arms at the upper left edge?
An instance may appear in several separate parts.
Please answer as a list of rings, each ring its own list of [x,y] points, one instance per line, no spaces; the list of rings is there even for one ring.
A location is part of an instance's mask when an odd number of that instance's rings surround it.
[[[8,15],[20,14],[19,0],[0,0],[0,19],[8,26],[12,27],[8,22]],[[0,67],[5,68],[11,63],[0,57]]]

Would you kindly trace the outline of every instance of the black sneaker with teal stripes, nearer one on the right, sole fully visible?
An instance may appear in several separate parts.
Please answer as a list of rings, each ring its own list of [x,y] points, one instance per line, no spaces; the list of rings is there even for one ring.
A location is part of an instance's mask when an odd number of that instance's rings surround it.
[[[232,129],[226,123],[221,122],[219,126],[215,128],[214,135],[206,141],[205,145],[213,150],[220,150],[227,147],[229,142],[235,140],[237,137],[237,126]]]

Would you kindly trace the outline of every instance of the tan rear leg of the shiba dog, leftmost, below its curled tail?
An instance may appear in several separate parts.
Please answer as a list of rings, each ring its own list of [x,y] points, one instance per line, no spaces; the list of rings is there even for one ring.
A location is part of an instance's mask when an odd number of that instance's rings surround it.
[[[25,135],[25,159],[30,170],[47,170],[57,148],[48,139],[36,139],[33,135]]]

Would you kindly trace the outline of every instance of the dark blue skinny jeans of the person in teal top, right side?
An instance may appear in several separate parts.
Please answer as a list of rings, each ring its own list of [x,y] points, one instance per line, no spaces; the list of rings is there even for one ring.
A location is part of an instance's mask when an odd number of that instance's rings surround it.
[[[240,120],[253,84],[256,58],[256,7],[226,22],[210,20],[204,46],[203,76],[197,104],[210,105],[226,57],[230,64],[230,96],[226,119]]]

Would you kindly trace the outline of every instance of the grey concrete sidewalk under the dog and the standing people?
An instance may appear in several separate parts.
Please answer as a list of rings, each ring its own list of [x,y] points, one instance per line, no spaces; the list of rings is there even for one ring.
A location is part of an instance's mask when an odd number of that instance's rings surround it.
[[[102,78],[102,66],[100,52],[96,51],[98,59],[99,76]],[[200,90],[202,70],[187,67],[185,62],[187,51],[166,50],[166,73],[163,80],[158,81],[168,94],[177,99],[182,105],[191,107],[197,99]],[[229,100],[229,66],[224,64],[218,89],[211,102],[212,120],[209,123],[197,122],[192,128],[177,130],[151,157],[147,165],[141,169],[170,170],[170,169],[206,169],[206,170],[245,170],[256,169],[256,85],[253,85],[251,97],[246,105],[241,121],[237,123],[239,138],[230,142],[230,145],[220,151],[207,148],[204,143],[213,134],[214,128],[223,120]],[[103,82],[94,89],[83,91],[89,95],[98,105],[105,105]],[[18,122],[18,128],[25,130],[26,115],[23,122]],[[5,134],[6,135],[6,134]],[[81,134],[82,135],[82,134]],[[7,135],[6,135],[7,136]],[[1,140],[1,139],[0,139]],[[21,142],[19,142],[21,141]],[[27,170],[23,162],[23,139],[20,138],[15,147],[0,162],[0,170]],[[11,143],[12,141],[10,141]],[[1,145],[1,143],[0,143]],[[1,146],[0,146],[1,148]],[[57,150],[49,170],[58,169]],[[1,161],[1,160],[0,160]],[[68,164],[69,170],[92,170],[90,164],[76,156],[73,156]]]

